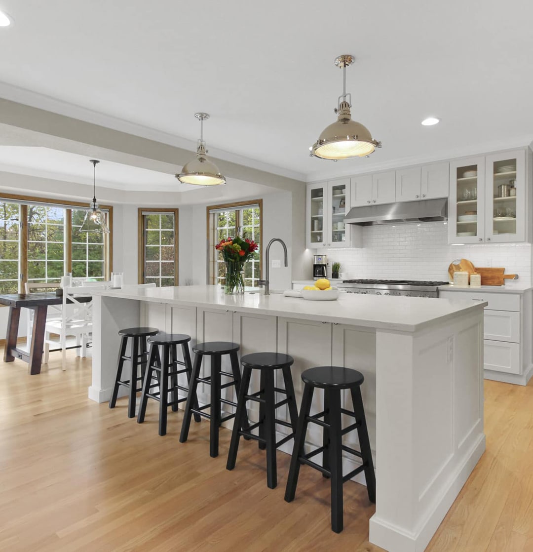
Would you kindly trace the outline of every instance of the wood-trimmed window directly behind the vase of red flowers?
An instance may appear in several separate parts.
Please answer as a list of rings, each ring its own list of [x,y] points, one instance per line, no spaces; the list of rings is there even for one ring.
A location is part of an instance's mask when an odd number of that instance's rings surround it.
[[[242,201],[207,208],[207,235],[209,236],[209,276],[211,284],[224,285],[226,269],[222,253],[215,245],[227,237],[239,235],[258,243],[259,248],[244,266],[244,285],[258,288],[261,277],[261,236],[263,200]]]

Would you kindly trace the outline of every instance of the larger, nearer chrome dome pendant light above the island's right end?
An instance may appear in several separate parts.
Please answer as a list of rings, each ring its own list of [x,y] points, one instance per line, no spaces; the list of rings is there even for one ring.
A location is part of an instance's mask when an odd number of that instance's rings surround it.
[[[335,59],[335,65],[343,70],[343,93],[339,96],[337,121],[327,126],[309,150],[312,157],[322,159],[349,159],[369,156],[381,142],[372,139],[369,130],[361,123],[351,120],[351,94],[346,93],[346,68],[354,62],[354,56],[344,54]],[[349,98],[349,100],[348,100]]]

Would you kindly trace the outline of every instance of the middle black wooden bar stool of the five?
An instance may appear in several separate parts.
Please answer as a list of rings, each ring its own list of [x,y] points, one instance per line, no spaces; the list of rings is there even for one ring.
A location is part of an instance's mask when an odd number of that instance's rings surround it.
[[[222,399],[220,392],[222,389],[234,386],[235,391],[239,392],[241,386],[241,371],[239,370],[239,359],[237,357],[237,351],[239,346],[237,343],[231,343],[228,341],[210,341],[206,343],[198,343],[193,347],[195,354],[193,364],[193,374],[191,375],[191,382],[189,386],[189,393],[187,395],[187,402],[185,403],[185,413],[183,415],[182,432],[179,436],[180,443],[185,443],[189,435],[189,427],[191,416],[194,414],[204,416],[210,420],[210,442],[209,442],[209,455],[212,458],[218,456],[218,428],[221,424],[227,420],[230,420],[235,414],[230,414],[224,418],[221,416],[222,404],[237,406],[236,402]],[[229,354],[231,362],[231,373],[222,371],[222,355]],[[202,359],[204,356],[211,357],[211,375],[206,378],[200,378],[200,368]],[[221,376],[231,378],[229,383],[222,384]],[[211,402],[204,406],[198,406],[196,398],[196,388],[199,383],[209,384],[211,386]],[[210,413],[204,412],[206,408],[210,408]],[[248,427],[248,421],[244,427]]]

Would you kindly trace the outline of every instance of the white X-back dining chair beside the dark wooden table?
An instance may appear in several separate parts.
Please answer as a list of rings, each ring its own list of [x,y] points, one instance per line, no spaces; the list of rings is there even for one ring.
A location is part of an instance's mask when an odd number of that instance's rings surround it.
[[[86,298],[90,291],[96,289],[105,289],[105,286],[89,286],[89,288],[81,288],[80,286],[63,288],[63,301],[61,305],[61,319],[46,322],[45,326],[45,343],[48,348],[45,348],[45,362],[48,362],[48,352],[50,344],[57,346],[56,341],[50,338],[51,333],[59,336],[59,344],[61,347],[61,368],[66,370],[67,363],[67,336],[76,338],[76,347],[78,348],[78,356],[87,356],[87,344],[90,342],[93,331],[92,307],[93,300],[78,301],[81,294]],[[79,351],[81,349],[81,351]]]

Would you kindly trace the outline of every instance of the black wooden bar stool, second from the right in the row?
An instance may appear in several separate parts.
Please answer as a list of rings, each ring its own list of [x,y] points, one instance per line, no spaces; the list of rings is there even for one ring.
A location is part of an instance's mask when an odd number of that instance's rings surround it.
[[[242,436],[255,439],[259,442],[259,448],[266,448],[266,484],[270,489],[275,489],[278,484],[276,449],[292,439],[295,435],[298,421],[298,410],[292,385],[291,365],[294,358],[283,353],[252,353],[241,358],[243,365],[241,389],[237,399],[237,412],[231,434],[230,452],[226,468],[232,470],[237,460],[239,438]],[[248,395],[248,386],[252,376],[252,370],[261,370],[259,391]],[[285,382],[285,389],[274,385],[274,371],[281,370]],[[276,402],[275,394],[283,393],[286,399]],[[246,417],[246,401],[259,402],[259,421],[252,426],[241,429],[248,421]],[[288,405],[290,423],[284,420],[276,420],[276,408]],[[291,433],[276,443],[276,423],[291,428]],[[259,437],[251,431],[259,428]]]

